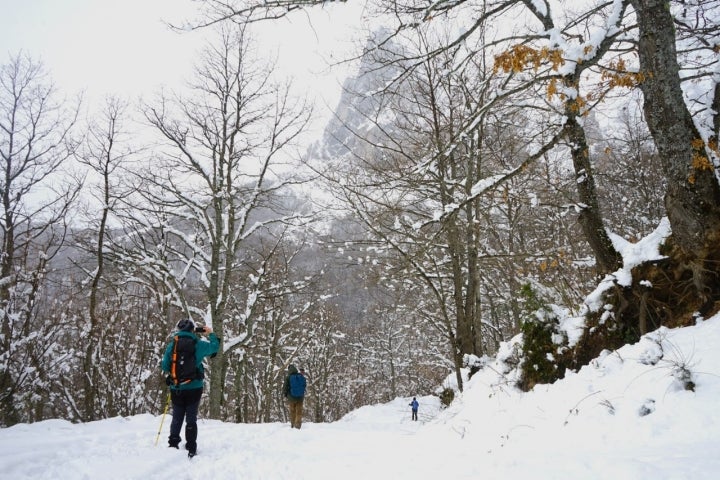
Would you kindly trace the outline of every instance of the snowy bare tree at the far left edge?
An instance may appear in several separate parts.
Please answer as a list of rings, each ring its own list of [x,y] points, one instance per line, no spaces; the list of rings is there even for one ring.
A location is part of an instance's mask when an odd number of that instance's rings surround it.
[[[30,384],[61,325],[37,303],[48,262],[65,241],[79,191],[62,167],[72,156],[80,106],[64,104],[43,66],[18,55],[0,66],[0,424],[28,418]],[[68,108],[70,107],[70,108]],[[41,333],[43,333],[41,335]],[[50,364],[52,365],[52,363]]]

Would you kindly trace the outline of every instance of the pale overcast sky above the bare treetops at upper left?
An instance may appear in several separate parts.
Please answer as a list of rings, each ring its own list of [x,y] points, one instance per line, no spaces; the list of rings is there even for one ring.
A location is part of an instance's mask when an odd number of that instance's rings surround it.
[[[85,90],[90,100],[181,85],[192,72],[200,37],[210,34],[180,34],[163,23],[196,13],[190,0],[0,0],[0,12],[2,63],[26,52],[43,61],[64,93]],[[334,106],[338,74],[328,74],[324,59],[336,49],[347,51],[361,13],[356,1],[315,8],[292,24],[266,24],[256,38],[269,57],[278,53],[278,68],[303,86],[299,90],[319,92]]]

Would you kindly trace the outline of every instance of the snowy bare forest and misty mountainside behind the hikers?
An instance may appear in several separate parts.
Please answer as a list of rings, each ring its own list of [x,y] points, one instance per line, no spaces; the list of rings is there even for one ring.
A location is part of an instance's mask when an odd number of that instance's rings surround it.
[[[252,26],[325,3],[200,1],[189,87],[87,119],[2,63],[0,425],[157,411],[188,317],[221,342],[205,413],[252,423],[291,362],[332,421],[512,338],[530,389],[717,311],[720,1],[370,1],[308,147]]]

